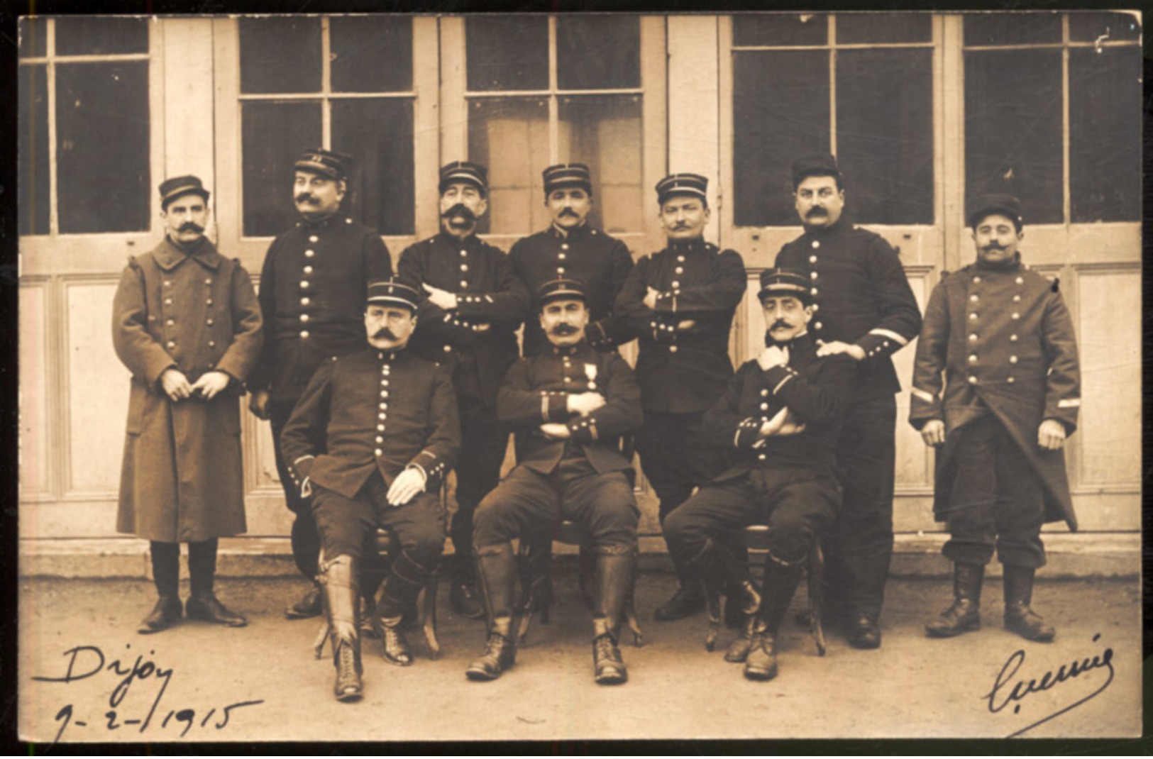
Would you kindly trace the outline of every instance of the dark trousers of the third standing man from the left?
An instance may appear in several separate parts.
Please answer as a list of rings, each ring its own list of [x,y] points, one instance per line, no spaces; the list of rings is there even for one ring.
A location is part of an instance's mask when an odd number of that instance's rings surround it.
[[[472,573],[473,514],[484,496],[500,482],[500,466],[508,448],[508,431],[488,408],[470,408],[460,419],[460,457],[457,461],[457,513],[449,536],[459,557],[453,572],[458,579]]]

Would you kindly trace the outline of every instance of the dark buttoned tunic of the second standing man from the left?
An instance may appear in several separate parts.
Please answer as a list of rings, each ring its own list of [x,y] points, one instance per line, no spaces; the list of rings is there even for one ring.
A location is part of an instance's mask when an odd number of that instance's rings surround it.
[[[297,221],[273,240],[261,269],[267,339],[250,388],[291,408],[322,361],[364,345],[368,283],[391,276],[380,235],[344,216]]]

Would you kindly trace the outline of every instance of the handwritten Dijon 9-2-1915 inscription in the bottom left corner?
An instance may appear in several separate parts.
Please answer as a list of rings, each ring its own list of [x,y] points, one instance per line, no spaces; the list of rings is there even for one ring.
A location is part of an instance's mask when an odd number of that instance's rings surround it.
[[[130,649],[133,646],[131,644],[127,644],[125,647],[126,649]],[[149,655],[153,653],[149,652]],[[54,677],[33,676],[32,679],[42,683],[63,684],[103,675],[111,675],[112,678],[119,679],[110,679],[110,685],[114,682],[115,686],[108,694],[108,709],[104,714],[99,714],[103,705],[95,709],[96,714],[89,714],[83,708],[83,705],[80,707],[74,704],[62,706],[54,717],[60,724],[60,729],[52,742],[53,745],[60,742],[65,735],[65,730],[69,727],[92,728],[103,732],[135,728],[140,732],[144,732],[150,728],[153,730],[164,730],[169,724],[173,726],[174,730],[180,730],[181,726],[183,726],[183,729],[176,736],[180,738],[188,735],[188,731],[196,723],[202,729],[208,729],[211,726],[217,730],[223,730],[228,726],[236,709],[264,702],[264,699],[236,701],[220,708],[210,708],[202,714],[197,714],[196,709],[193,708],[173,708],[165,712],[165,709],[160,708],[160,699],[164,698],[164,692],[167,690],[168,683],[172,682],[174,670],[171,667],[164,668],[143,654],[137,654],[135,661],[131,661],[130,652],[123,659],[115,657],[110,660],[110,655],[106,655],[99,646],[75,646],[63,652],[63,656],[68,666],[62,675]],[[144,687],[145,683],[158,685],[156,697],[152,699],[148,714],[125,714],[119,711],[125,697],[136,683],[141,683],[141,687]],[[103,737],[96,737],[96,739],[99,741]]]

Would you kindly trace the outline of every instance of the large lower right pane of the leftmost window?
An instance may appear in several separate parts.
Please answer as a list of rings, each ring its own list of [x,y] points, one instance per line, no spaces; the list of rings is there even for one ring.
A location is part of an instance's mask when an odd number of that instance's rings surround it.
[[[149,228],[148,66],[56,66],[60,232]]]

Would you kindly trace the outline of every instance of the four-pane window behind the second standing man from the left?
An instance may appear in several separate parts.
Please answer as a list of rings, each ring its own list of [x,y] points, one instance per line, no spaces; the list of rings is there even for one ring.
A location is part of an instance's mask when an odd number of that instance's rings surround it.
[[[306,148],[351,153],[345,210],[380,234],[412,234],[413,21],[407,16],[241,18],[244,236],[296,218]]]

